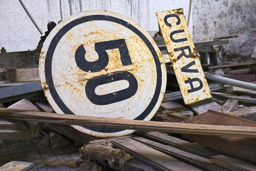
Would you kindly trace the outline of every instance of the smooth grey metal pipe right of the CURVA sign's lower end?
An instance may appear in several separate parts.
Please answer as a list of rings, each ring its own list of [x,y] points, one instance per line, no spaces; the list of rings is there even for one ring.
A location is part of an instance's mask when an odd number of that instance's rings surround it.
[[[206,79],[210,79],[213,80],[215,82],[220,82],[223,84],[228,84],[231,86],[236,86],[236,87],[241,87],[241,88],[245,88],[245,89],[251,89],[253,91],[256,91],[256,84],[252,84],[252,83],[246,83],[246,82],[242,82],[236,79],[231,79],[231,78],[226,78],[226,77],[221,77],[221,76],[217,76],[214,74],[209,74],[207,72],[204,72],[205,78]]]

